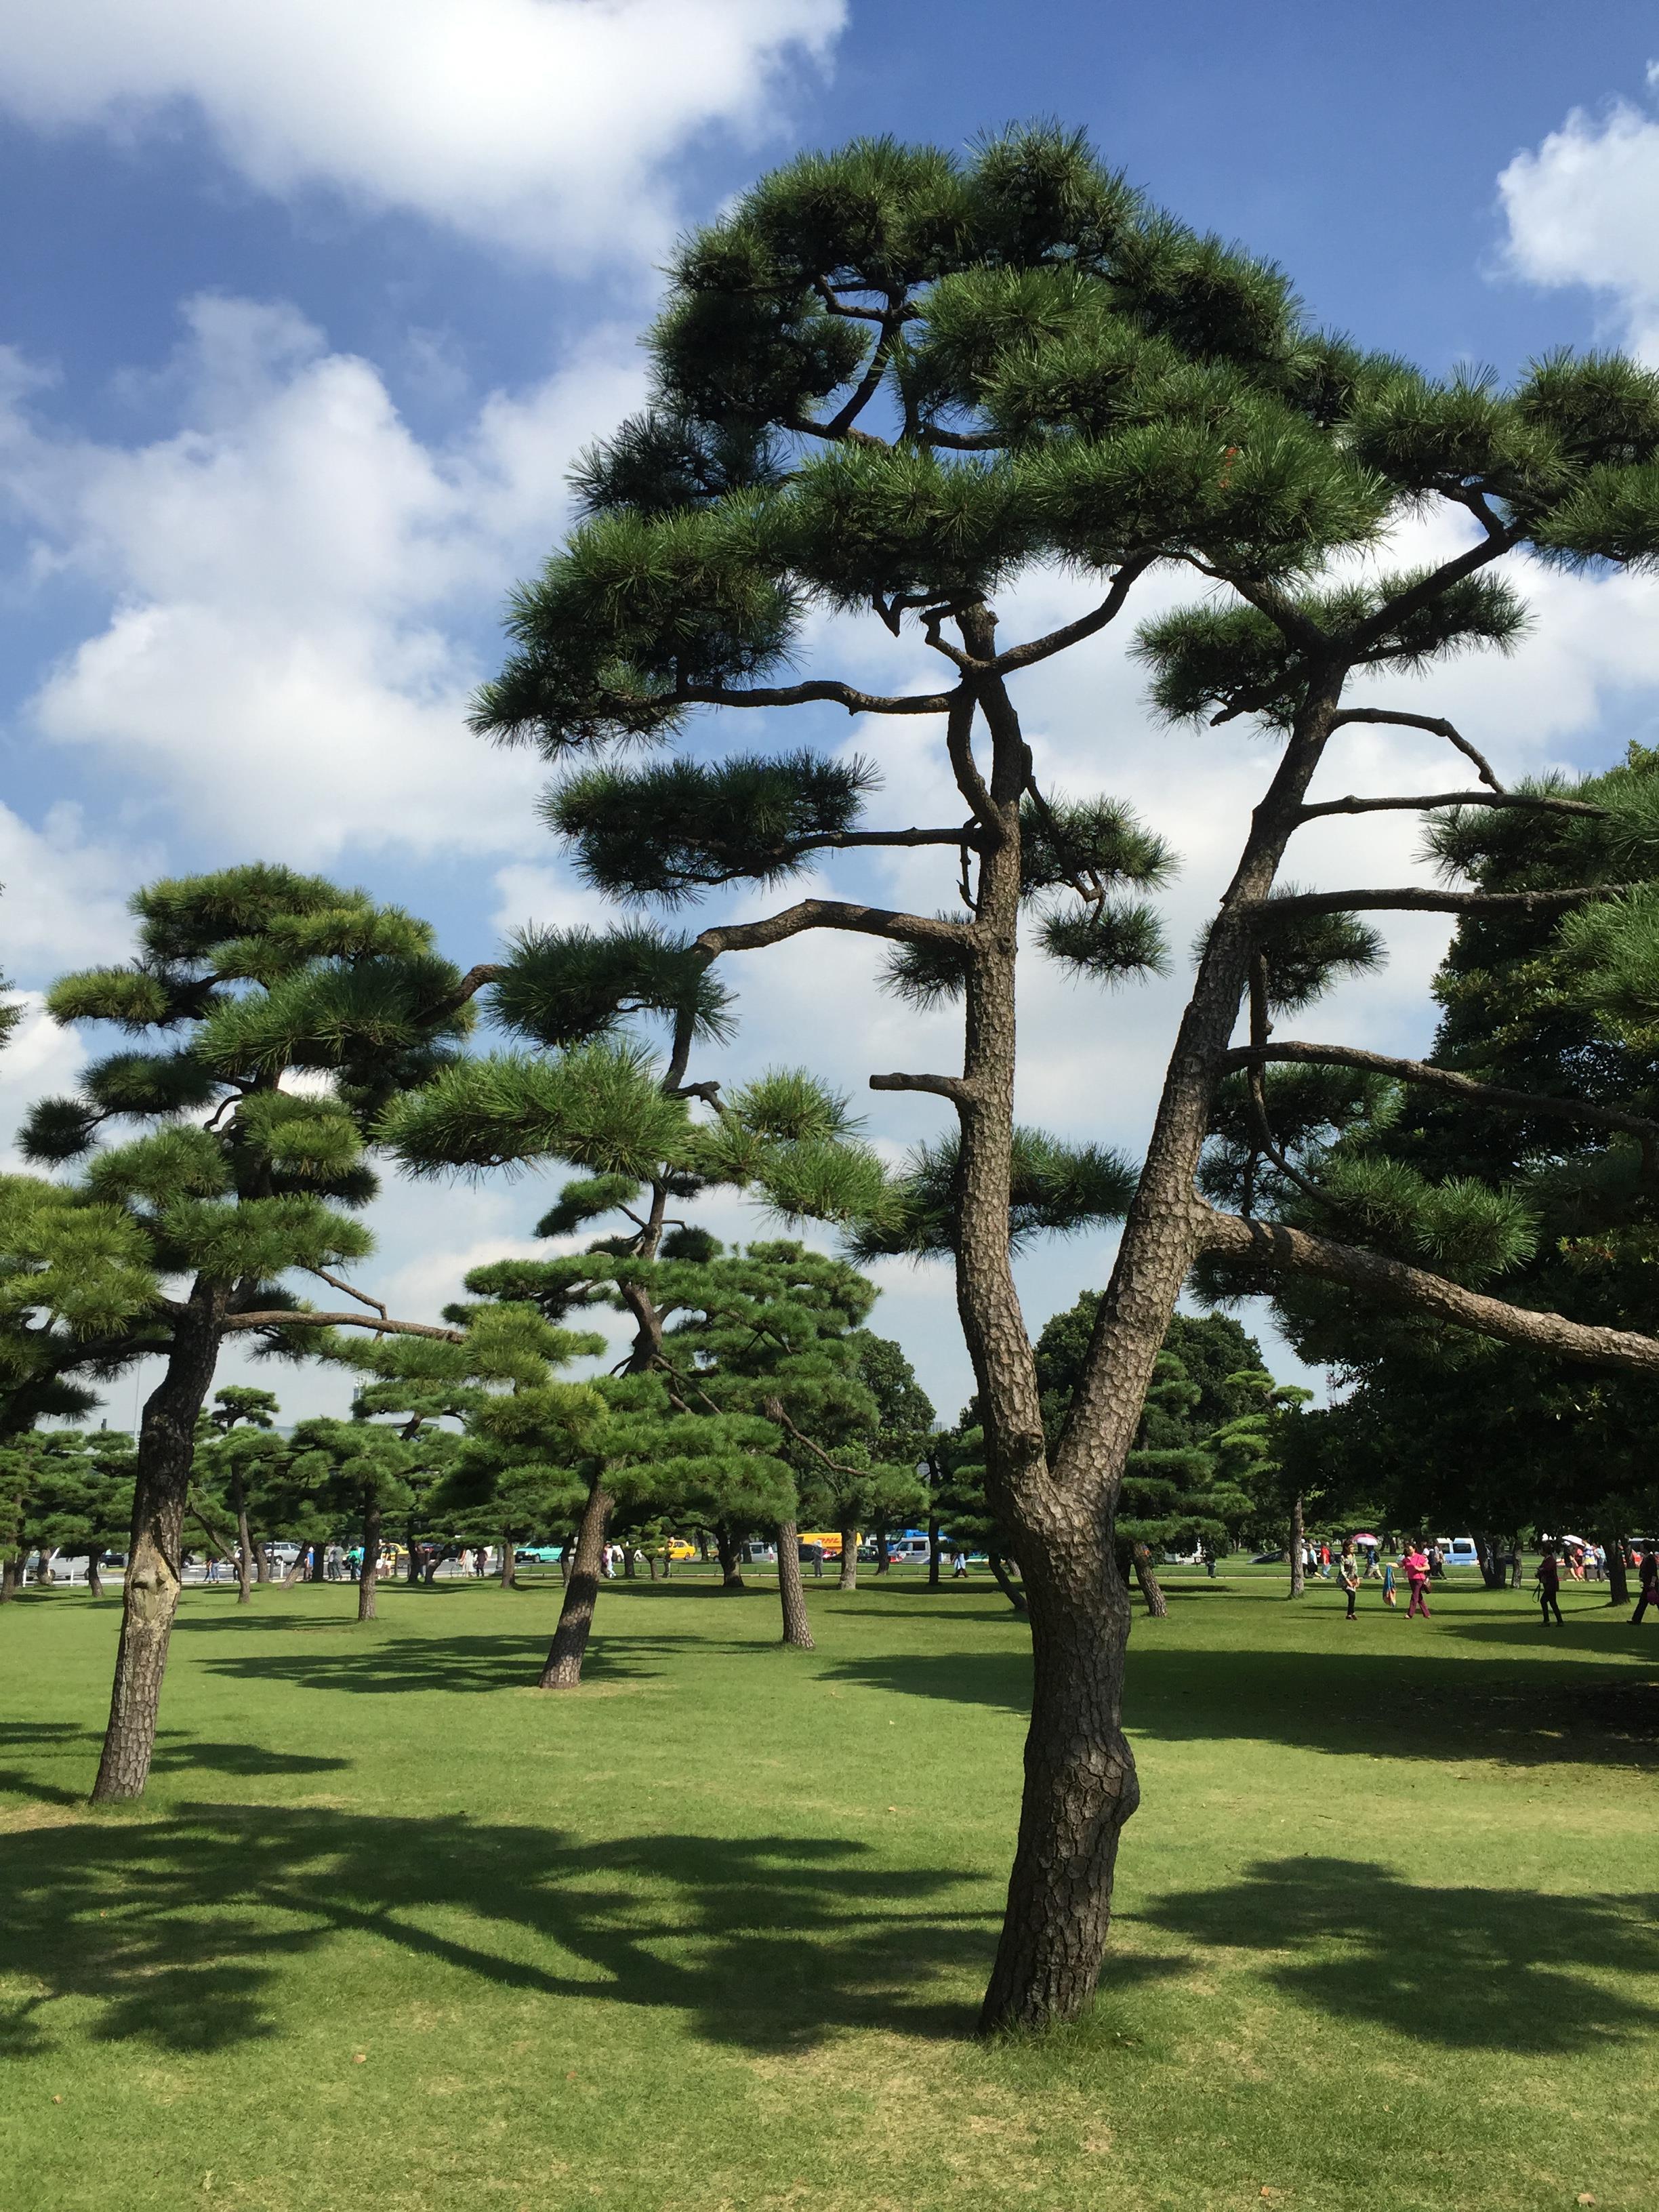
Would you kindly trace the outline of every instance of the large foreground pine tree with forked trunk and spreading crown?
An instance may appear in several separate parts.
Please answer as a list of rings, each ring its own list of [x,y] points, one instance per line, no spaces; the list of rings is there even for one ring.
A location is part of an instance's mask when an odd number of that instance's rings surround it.
[[[1057,128],[982,144],[969,161],[858,142],[763,179],[681,248],[650,336],[653,411],[580,469],[586,520],[513,599],[513,653],[478,728],[535,743],[562,772],[553,827],[586,878],[626,900],[679,902],[728,883],[781,883],[825,852],[936,847],[967,905],[900,914],[807,896],[721,922],[677,956],[710,967],[801,931],[891,947],[918,1002],[960,998],[960,1073],[872,1082],[945,1099],[958,1119],[872,1217],[918,1241],[940,1228],[984,1409],[987,1482],[1013,1528],[1037,1650],[1026,1796],[984,2026],[1068,2017],[1095,1989],[1117,1838],[1139,1798],[1121,1732],[1128,1599],[1113,1506],[1170,1312],[1201,1254],[1340,1279],[1369,1296],[1652,1371],[1659,1345],[1489,1298],[1455,1272],[1208,1203],[1194,1172],[1241,1002],[1256,1159],[1279,1133],[1261,1066],[1270,1013],[1363,973],[1383,911],[1495,911],[1500,894],[1279,883],[1294,832],[1327,812],[1449,803],[1559,812],[1493,790],[1462,732],[1369,703],[1378,677],[1504,648],[1524,626],[1491,573],[1535,549],[1557,562],[1659,553],[1659,378],[1604,356],[1551,358],[1500,392],[1433,383],[1303,321],[1285,279],[1150,210]],[[1460,549],[1433,566],[1336,555],[1376,549],[1425,507]],[[1033,564],[1095,580],[1075,622],[1004,644],[998,595]],[[1029,936],[1073,973],[1113,982],[1161,958],[1141,891],[1170,854],[1104,796],[1040,790],[1020,728],[1024,670],[1102,635],[1150,571],[1206,597],[1141,628],[1170,719],[1252,717],[1281,741],[1206,936],[1139,1172],[1048,1150],[1051,1225],[1124,1210],[1119,1254],[1082,1385],[1053,1447],[1009,1270],[1015,960]],[[1219,586],[1219,591],[1217,591]],[[799,675],[810,608],[867,611],[933,690],[872,692]],[[1365,706],[1347,701],[1365,679]],[[863,827],[876,768],[816,754],[615,765],[606,745],[668,739],[701,708],[838,706],[938,728],[945,821]],[[1310,803],[1340,730],[1389,721],[1475,759],[1482,787]],[[967,816],[967,821],[962,821]],[[1548,894],[1606,898],[1615,872]],[[810,1208],[801,1208],[803,1212]],[[1064,1869],[1064,1874],[1062,1874]]]

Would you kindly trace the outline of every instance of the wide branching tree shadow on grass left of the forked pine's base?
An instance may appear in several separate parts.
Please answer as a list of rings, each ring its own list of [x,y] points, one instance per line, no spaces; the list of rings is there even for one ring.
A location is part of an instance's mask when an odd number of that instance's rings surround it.
[[[279,1982],[341,1936],[529,1995],[679,2008],[752,2051],[843,2026],[958,2035],[962,2004],[929,1982],[989,1962],[998,1916],[949,1896],[969,1880],[836,1836],[575,1843],[325,1807],[29,1829],[0,1836],[7,1966],[35,1986],[0,2013],[0,2053],[46,2048],[58,1997],[91,2000],[106,2042],[279,2035]]]

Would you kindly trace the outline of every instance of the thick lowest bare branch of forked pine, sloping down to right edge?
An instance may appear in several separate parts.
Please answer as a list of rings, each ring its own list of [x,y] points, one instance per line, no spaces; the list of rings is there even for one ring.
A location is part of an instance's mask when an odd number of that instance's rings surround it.
[[[1380,1305],[1431,1314],[1475,1336],[1493,1336],[1498,1343],[1526,1345],[1588,1367],[1624,1367],[1630,1374],[1659,1376],[1659,1338],[1506,1305],[1425,1267],[1329,1237],[1310,1237],[1307,1230],[1292,1230],[1283,1221],[1243,1221],[1239,1214],[1203,1208],[1199,1245],[1223,1259],[1256,1261],[1292,1274],[1312,1274],[1325,1283],[1343,1283]]]

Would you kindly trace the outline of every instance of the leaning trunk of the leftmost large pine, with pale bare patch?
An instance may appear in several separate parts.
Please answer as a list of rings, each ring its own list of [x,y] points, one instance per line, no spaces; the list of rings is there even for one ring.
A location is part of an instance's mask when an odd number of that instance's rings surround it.
[[[115,1655],[108,1730],[93,1803],[144,1794],[155,1754],[161,1677],[179,1610],[184,1504],[190,1491],[195,1431],[219,1363],[219,1323],[228,1292],[197,1281],[173,1329],[166,1374],[144,1405],[133,1484],[133,1535],[126,1546],[122,1641]]]

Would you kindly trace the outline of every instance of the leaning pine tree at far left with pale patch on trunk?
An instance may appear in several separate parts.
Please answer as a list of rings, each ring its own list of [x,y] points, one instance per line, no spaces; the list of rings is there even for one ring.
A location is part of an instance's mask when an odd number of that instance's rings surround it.
[[[159,1349],[164,1376],[139,1429],[97,1801],[137,1796],[148,1774],[197,1416],[221,1345],[254,1336],[292,1354],[319,1329],[425,1329],[336,1267],[369,1250],[354,1212],[376,1188],[376,1119],[442,1068],[471,1020],[422,922],[321,878],[259,865],[188,876],[139,891],[133,914],[135,960],[62,978],[46,1006],[142,1042],[88,1066],[75,1097],[35,1106],[22,1137],[38,1161],[84,1161],[73,1199],[100,1210],[100,1234],[119,1223],[128,1272],[188,1285],[153,1290],[137,1312],[128,1296],[131,1336],[111,1354]],[[323,1084],[290,1088],[290,1075]],[[104,1144],[124,1121],[146,1133]],[[356,1310],[301,1307],[294,1274]]]

